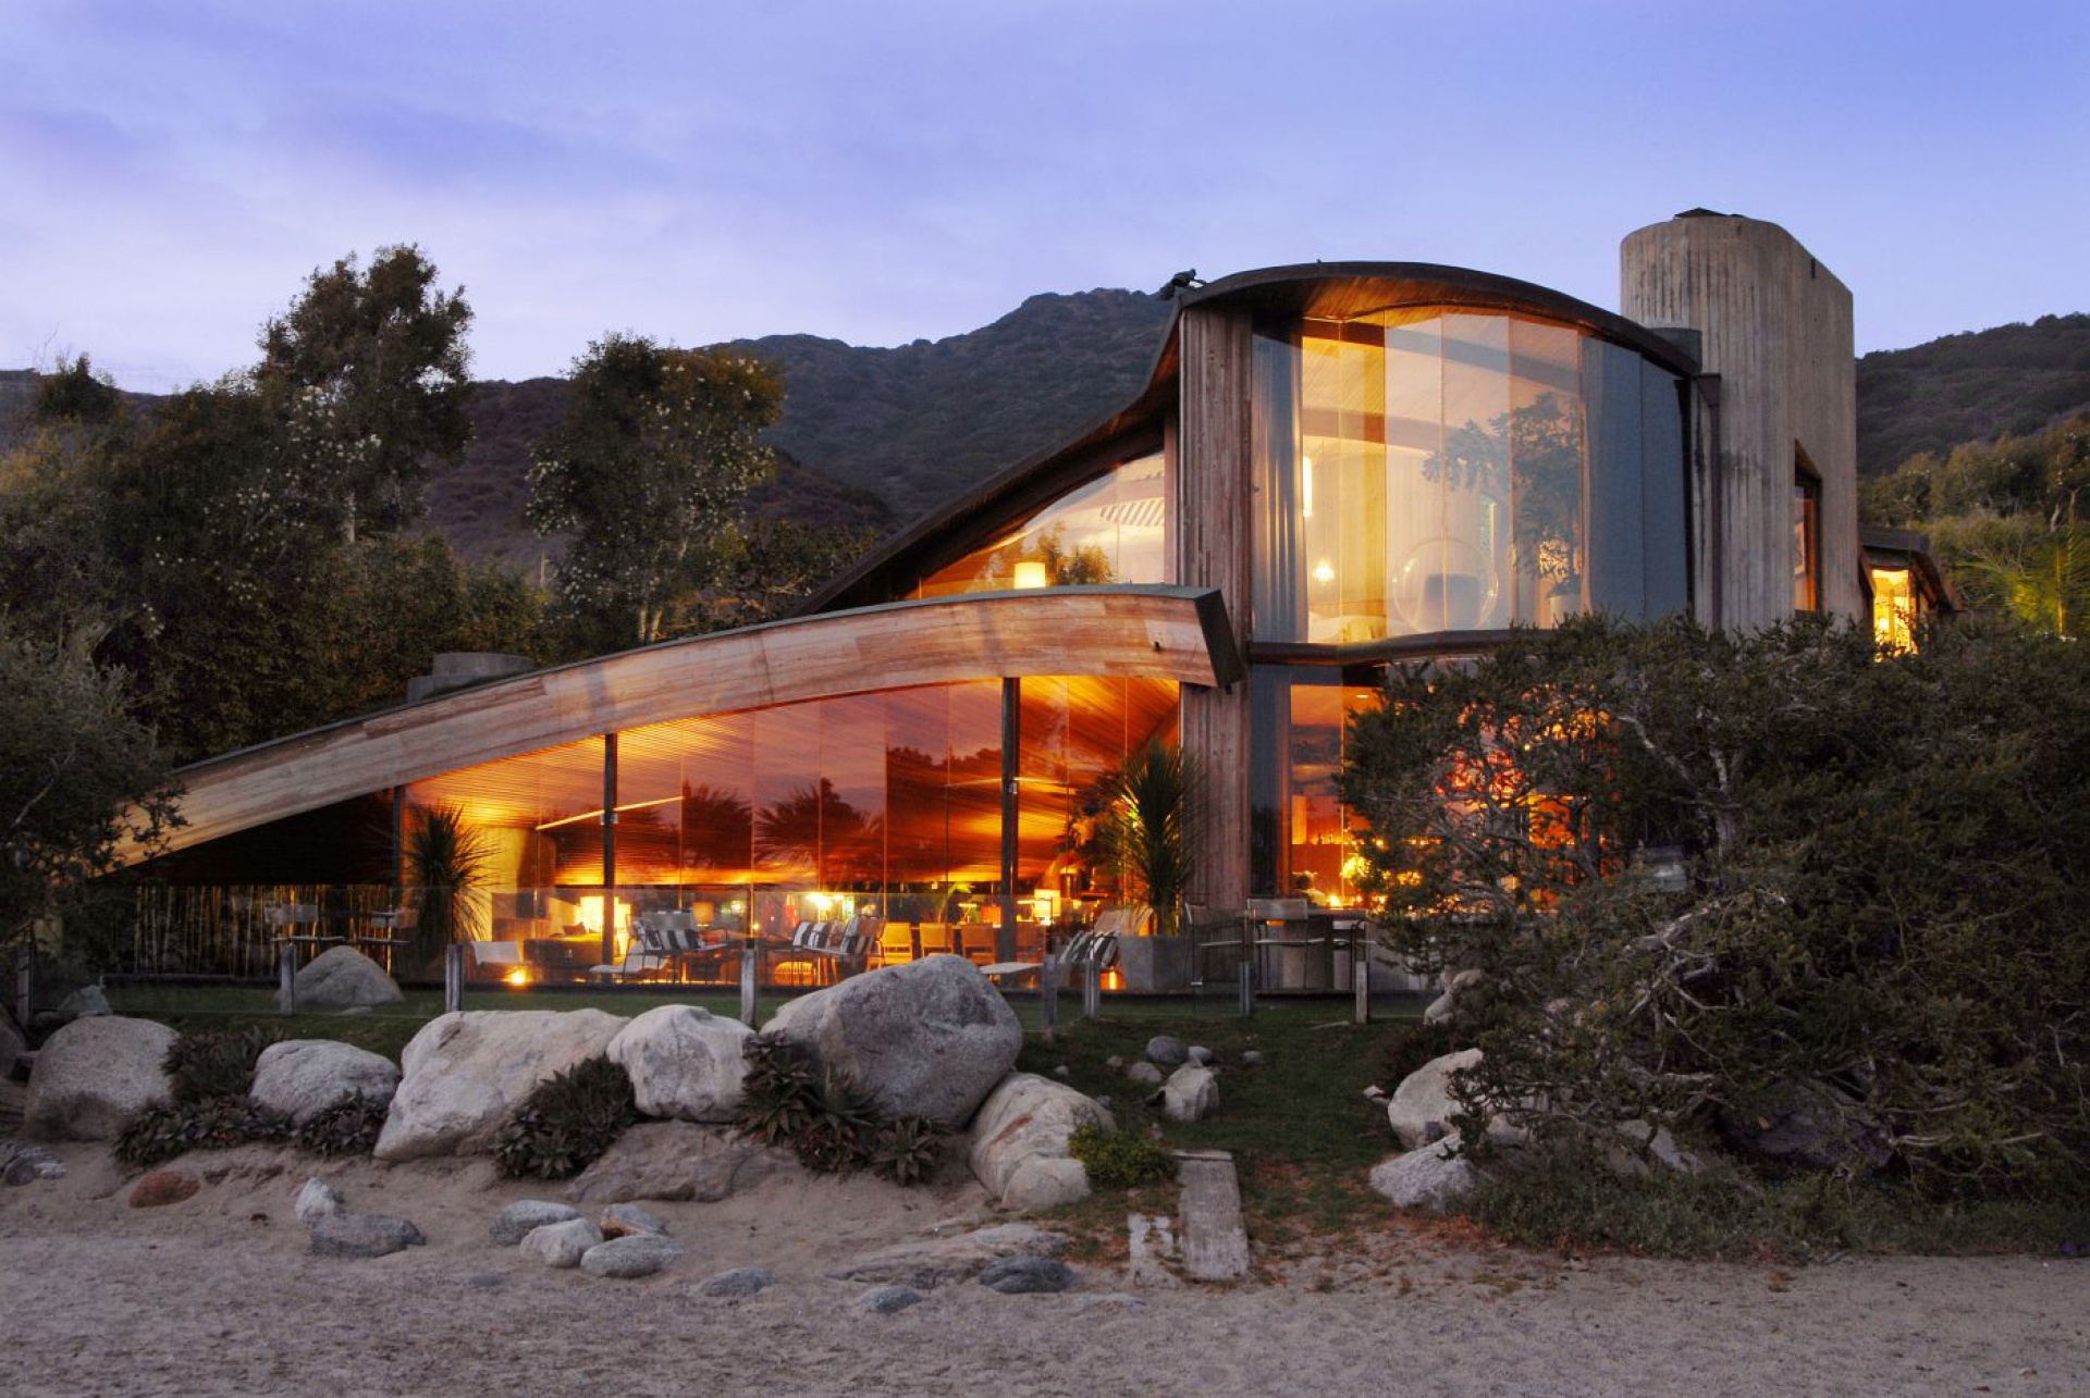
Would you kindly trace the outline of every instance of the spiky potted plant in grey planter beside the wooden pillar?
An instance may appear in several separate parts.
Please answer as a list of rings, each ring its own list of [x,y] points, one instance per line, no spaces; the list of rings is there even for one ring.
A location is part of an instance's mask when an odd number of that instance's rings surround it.
[[[1147,909],[1139,936],[1118,938],[1127,991],[1183,991],[1191,949],[1183,926],[1198,848],[1200,782],[1181,748],[1139,748],[1110,782],[1104,846],[1127,903]]]

